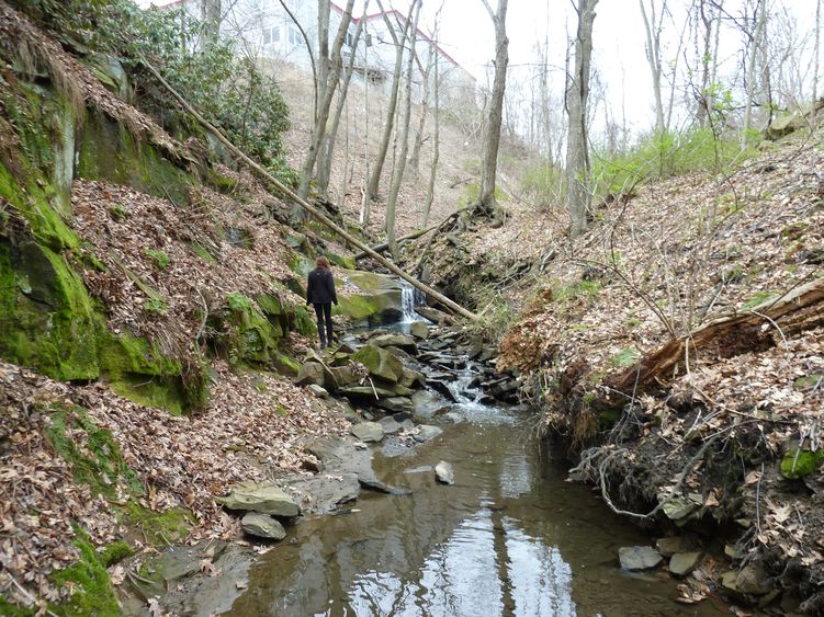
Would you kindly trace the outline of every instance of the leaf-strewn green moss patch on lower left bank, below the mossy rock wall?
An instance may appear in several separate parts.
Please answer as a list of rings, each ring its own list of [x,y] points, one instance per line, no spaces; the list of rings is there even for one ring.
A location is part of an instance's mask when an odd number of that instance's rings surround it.
[[[109,498],[115,496],[117,483],[143,494],[143,483],[126,465],[111,431],[101,430],[87,410],[74,405],[55,408],[50,419],[46,438],[69,464],[77,482]]]

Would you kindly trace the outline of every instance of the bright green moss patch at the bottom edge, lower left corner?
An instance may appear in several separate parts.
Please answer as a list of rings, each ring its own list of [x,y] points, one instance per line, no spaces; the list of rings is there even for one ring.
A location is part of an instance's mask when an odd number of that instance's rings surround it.
[[[120,615],[117,596],[105,565],[89,536],[80,529],[76,533],[78,537],[74,544],[80,551],[80,561],[52,574],[56,585],[71,585],[75,593],[55,609],[63,615]]]

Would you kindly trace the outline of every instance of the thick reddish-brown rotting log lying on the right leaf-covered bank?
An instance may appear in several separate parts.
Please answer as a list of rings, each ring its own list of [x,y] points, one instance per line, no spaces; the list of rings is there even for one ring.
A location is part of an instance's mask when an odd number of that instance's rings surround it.
[[[668,381],[676,367],[715,354],[733,357],[774,347],[785,336],[824,324],[824,279],[794,287],[747,311],[719,317],[688,336],[670,339],[634,366],[608,379],[620,392],[643,391],[653,381]]]

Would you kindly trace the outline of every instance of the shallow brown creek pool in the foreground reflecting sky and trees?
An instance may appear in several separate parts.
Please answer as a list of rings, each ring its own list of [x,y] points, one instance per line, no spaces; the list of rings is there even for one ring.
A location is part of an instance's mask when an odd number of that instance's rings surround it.
[[[676,583],[618,567],[652,538],[538,455],[534,416],[474,402],[458,374],[453,409],[427,444],[390,437],[374,469],[408,496],[364,492],[351,510],[306,521],[249,571],[227,615],[721,615],[677,604]],[[434,423],[434,422],[433,422]],[[454,467],[455,484],[432,468]]]

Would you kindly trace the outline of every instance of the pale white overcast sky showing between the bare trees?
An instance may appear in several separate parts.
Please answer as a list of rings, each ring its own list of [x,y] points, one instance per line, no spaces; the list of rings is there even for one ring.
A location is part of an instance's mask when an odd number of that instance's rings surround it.
[[[139,0],[148,4],[150,0]],[[169,0],[154,0],[165,4]],[[224,0],[226,1],[226,0]],[[272,0],[276,1],[276,0]],[[312,1],[312,0],[309,0]],[[644,0],[648,3],[650,0]],[[663,0],[655,0],[661,3]],[[747,0],[725,0],[724,5],[736,13]],[[752,0],[749,0],[752,1]],[[342,0],[338,0],[341,3]],[[383,0],[384,7],[405,11],[409,0]],[[489,0],[496,5],[496,0]],[[816,0],[768,0],[774,7],[787,7],[799,18],[800,30],[814,24]],[[691,0],[668,0],[677,27]],[[355,1],[353,14],[362,11],[363,0]],[[441,8],[442,5],[442,8]],[[495,56],[495,36],[492,20],[482,0],[424,0],[421,30],[431,32],[434,15],[441,8],[440,45],[459,64],[476,77],[478,83],[487,82],[488,70]],[[377,11],[371,0],[369,12]],[[550,75],[555,89],[563,90],[563,67],[567,42],[576,27],[572,0],[509,0],[507,33],[509,36],[509,75],[518,79],[535,64],[535,43],[546,41],[550,48]],[[664,41],[664,60],[677,57],[679,32],[670,25]],[[808,33],[809,34],[809,33]],[[613,113],[624,110],[631,128],[642,129],[653,123],[652,79],[645,56],[645,37],[639,0],[600,0],[596,7],[594,26],[592,64],[606,85]],[[725,33],[721,56],[734,65],[740,39]],[[824,65],[824,61],[822,61]],[[823,67],[824,68],[824,67]],[[732,79],[730,77],[730,79]],[[823,79],[824,80],[824,79]],[[667,94],[665,93],[665,96]]]

